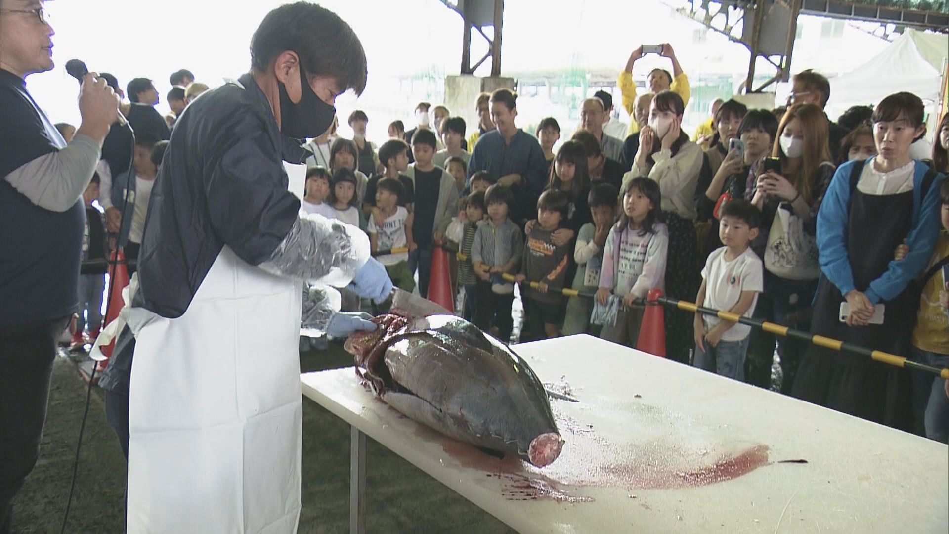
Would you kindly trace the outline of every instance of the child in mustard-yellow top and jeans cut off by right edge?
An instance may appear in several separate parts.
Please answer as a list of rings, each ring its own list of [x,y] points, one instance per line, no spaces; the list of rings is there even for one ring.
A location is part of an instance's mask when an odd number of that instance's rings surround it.
[[[939,140],[937,140],[939,143]],[[949,181],[940,185],[942,232],[922,277],[920,311],[913,330],[913,359],[933,367],[949,367]],[[898,250],[897,259],[905,256]],[[917,429],[940,443],[949,440],[949,398],[938,376],[913,372],[913,411]]]

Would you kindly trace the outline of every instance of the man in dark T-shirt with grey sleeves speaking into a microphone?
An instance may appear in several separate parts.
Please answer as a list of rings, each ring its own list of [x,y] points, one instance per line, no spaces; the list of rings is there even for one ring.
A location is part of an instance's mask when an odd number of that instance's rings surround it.
[[[0,533],[39,455],[56,342],[78,303],[83,191],[119,99],[95,73],[65,143],[27,90],[53,67],[40,0],[0,0]]]

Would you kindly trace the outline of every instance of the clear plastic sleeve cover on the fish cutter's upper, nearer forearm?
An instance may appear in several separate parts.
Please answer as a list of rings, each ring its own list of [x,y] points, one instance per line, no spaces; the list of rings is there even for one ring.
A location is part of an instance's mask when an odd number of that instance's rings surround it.
[[[309,284],[345,287],[369,259],[362,230],[322,215],[303,215],[259,267]]]

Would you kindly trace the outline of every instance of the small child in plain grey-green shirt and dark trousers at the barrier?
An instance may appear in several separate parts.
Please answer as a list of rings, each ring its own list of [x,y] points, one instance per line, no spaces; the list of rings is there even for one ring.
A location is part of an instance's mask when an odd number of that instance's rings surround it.
[[[502,275],[521,264],[524,242],[521,229],[508,218],[513,194],[509,187],[492,185],[484,194],[488,220],[478,226],[472,243],[472,268],[477,282],[477,314],[474,325],[489,332],[497,327],[497,337],[511,341],[511,305],[514,286]]]

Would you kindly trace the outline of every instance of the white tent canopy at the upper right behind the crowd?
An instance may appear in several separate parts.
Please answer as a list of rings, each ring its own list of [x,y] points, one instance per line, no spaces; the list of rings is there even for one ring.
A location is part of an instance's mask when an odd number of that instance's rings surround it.
[[[830,79],[828,115],[836,117],[851,105],[876,105],[900,91],[916,94],[935,110],[947,50],[949,35],[906,29],[862,67]]]

